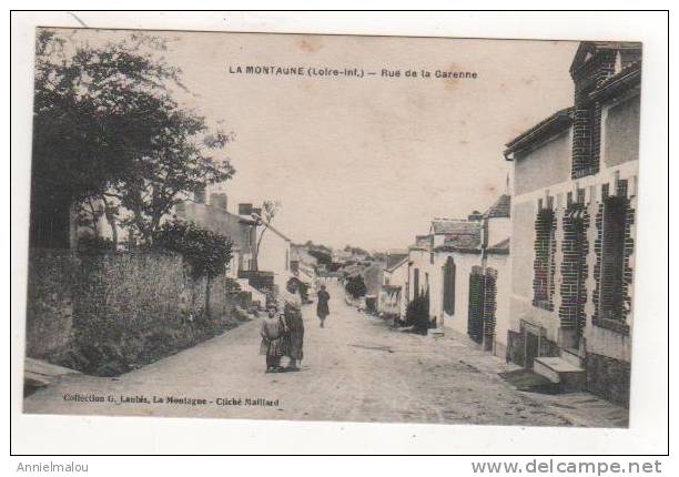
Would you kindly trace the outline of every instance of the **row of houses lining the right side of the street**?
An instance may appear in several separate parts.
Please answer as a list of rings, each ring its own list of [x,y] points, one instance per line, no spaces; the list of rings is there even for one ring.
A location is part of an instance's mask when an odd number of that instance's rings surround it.
[[[426,300],[433,331],[628,405],[641,45],[582,42],[569,72],[572,106],[507,143],[506,193],[387,254],[379,307]]]

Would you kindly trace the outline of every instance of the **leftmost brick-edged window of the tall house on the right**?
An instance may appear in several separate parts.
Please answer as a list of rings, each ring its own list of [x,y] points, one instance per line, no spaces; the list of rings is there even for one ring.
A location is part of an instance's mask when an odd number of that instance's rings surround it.
[[[541,209],[535,221],[534,306],[554,311],[554,255],[556,217],[551,209]]]

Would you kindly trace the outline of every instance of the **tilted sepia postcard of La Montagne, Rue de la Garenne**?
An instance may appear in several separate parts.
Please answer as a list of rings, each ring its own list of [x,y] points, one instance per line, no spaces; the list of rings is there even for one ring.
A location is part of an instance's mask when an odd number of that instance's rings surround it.
[[[641,43],[34,40],[24,413],[628,426]]]

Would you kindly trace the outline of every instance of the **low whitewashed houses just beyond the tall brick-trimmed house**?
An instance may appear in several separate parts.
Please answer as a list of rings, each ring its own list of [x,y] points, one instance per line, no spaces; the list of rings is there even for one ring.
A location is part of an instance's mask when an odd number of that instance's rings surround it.
[[[511,197],[485,213],[435,219],[408,247],[407,301],[428,298],[432,326],[466,334],[504,355],[509,323]]]

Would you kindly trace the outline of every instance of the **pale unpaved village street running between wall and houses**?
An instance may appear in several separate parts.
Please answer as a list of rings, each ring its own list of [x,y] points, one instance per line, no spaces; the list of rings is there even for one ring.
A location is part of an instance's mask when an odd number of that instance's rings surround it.
[[[626,410],[587,393],[516,390],[497,373],[515,369],[464,337],[433,338],[389,328],[349,307],[330,285],[331,316],[320,328],[304,308],[298,373],[265,374],[259,322],[119,377],[64,376],[24,399],[40,414],[148,415],[355,422],[621,426]],[[64,395],[103,402],[65,400]],[[108,402],[111,396],[113,403]],[[121,403],[145,396],[148,404]],[[153,403],[153,396],[163,403]],[[169,404],[175,398],[204,405]],[[277,399],[274,406],[220,405],[221,398]],[[122,399],[124,400],[124,398]]]

